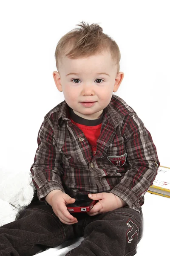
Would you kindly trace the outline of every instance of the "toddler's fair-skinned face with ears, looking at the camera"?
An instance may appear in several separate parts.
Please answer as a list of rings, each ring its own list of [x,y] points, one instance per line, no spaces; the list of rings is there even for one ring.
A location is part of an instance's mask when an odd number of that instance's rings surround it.
[[[64,57],[59,73],[53,73],[67,104],[85,119],[99,118],[111,101],[112,93],[118,90],[123,75],[122,72],[117,74],[117,65],[108,51],[86,58]]]

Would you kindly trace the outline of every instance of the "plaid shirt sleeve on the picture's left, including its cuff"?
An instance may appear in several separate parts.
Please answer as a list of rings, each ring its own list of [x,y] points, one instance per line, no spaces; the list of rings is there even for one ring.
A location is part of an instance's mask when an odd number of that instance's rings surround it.
[[[60,175],[61,154],[56,152],[54,128],[48,120],[44,119],[37,137],[38,148],[31,166],[32,180],[37,189],[40,201],[54,189],[65,192]]]

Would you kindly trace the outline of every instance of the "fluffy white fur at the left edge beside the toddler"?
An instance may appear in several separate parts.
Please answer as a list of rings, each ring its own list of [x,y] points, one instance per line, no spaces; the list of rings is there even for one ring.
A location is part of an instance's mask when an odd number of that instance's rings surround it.
[[[31,172],[10,172],[0,168],[0,226],[16,219],[34,195]],[[3,177],[3,178],[2,178]]]

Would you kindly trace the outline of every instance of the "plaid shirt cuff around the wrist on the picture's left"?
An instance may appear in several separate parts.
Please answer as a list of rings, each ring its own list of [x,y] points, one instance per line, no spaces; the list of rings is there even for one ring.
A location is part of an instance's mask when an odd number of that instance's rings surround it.
[[[59,184],[56,182],[49,181],[48,183],[43,184],[39,189],[37,189],[38,199],[40,201],[45,201],[45,196],[54,189],[59,189],[63,193],[65,193],[65,190],[62,186],[59,186]]]

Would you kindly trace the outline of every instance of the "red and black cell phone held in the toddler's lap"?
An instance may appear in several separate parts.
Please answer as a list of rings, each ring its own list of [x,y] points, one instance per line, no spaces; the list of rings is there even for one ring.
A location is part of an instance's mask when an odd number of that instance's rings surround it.
[[[88,195],[76,195],[73,198],[76,199],[75,203],[66,205],[69,212],[90,212],[98,202],[90,199]]]

